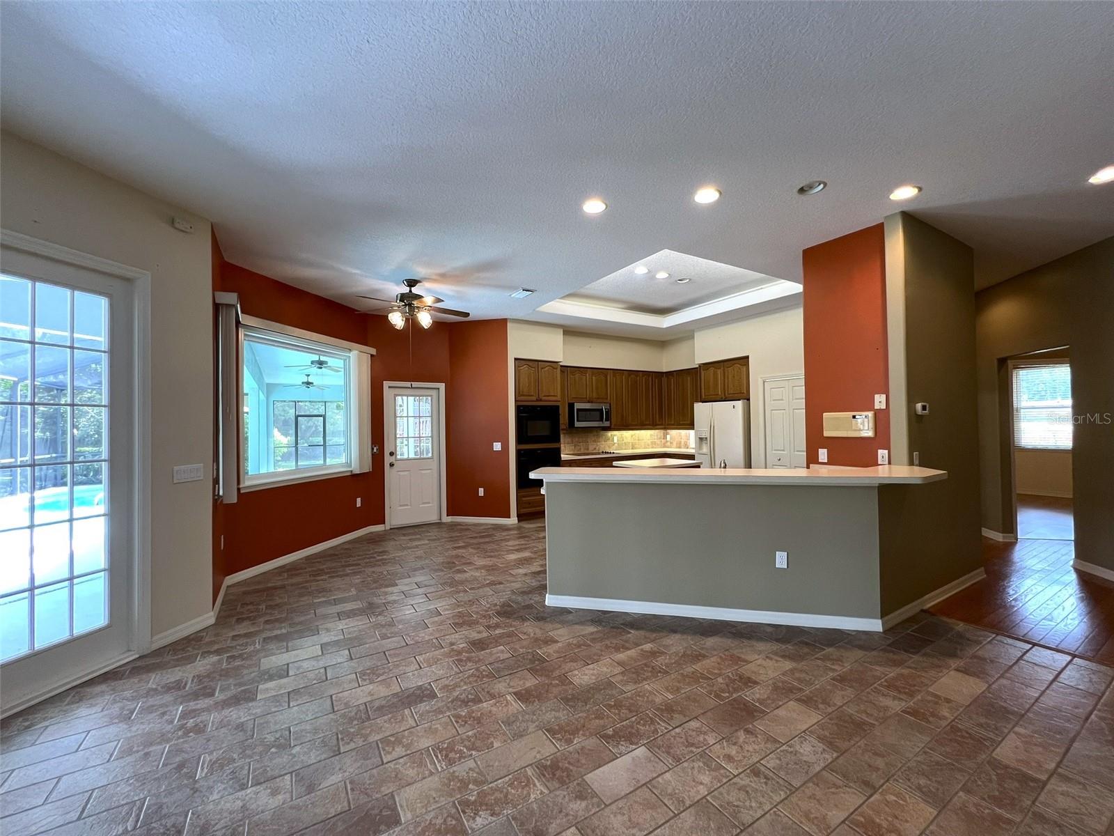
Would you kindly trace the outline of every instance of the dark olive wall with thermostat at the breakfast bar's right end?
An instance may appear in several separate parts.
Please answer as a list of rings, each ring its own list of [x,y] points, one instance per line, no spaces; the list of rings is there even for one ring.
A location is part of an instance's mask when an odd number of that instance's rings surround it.
[[[890,380],[901,380],[903,399],[891,397],[889,408],[891,420],[903,416],[908,444],[908,459],[891,460],[911,464],[919,454],[922,467],[948,473],[945,482],[910,492],[908,506],[887,516],[887,531],[905,537],[902,561],[882,570],[889,611],[979,568],[981,555],[974,253],[903,212],[887,218],[886,249],[888,320],[897,320],[903,336],[903,351],[889,357]],[[893,273],[891,265],[900,269]],[[927,416],[913,415],[919,401],[928,402]]]

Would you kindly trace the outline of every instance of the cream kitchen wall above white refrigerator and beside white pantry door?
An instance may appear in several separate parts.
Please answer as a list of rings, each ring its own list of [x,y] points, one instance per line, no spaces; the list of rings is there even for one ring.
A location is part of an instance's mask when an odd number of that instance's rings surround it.
[[[697,331],[694,356],[697,363],[751,358],[751,461],[765,467],[765,401],[762,379],[804,372],[804,327],[801,307],[763,313],[741,322]],[[809,381],[804,381],[809,397]]]

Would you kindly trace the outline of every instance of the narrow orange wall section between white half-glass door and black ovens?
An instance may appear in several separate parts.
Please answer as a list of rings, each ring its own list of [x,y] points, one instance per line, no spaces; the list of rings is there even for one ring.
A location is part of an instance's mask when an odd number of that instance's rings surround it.
[[[446,331],[449,515],[509,517],[507,321],[453,322]],[[492,450],[492,441],[501,441],[502,449]]]

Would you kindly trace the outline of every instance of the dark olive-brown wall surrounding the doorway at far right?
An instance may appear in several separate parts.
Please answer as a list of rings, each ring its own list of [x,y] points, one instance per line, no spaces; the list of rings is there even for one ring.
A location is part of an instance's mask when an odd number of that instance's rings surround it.
[[[983,525],[1014,533],[1007,360],[1069,346],[1075,556],[1114,570],[1114,237],[976,294]]]

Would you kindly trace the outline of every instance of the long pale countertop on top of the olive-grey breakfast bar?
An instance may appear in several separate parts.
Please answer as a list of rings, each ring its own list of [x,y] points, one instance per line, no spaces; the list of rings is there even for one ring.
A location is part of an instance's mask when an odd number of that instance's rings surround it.
[[[812,467],[756,469],[742,467],[541,467],[530,474],[545,482],[694,483],[715,485],[921,485],[948,478],[946,470],[928,467]]]

